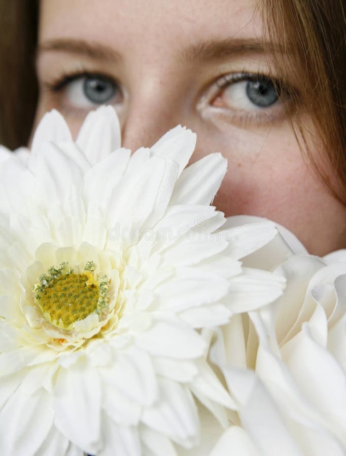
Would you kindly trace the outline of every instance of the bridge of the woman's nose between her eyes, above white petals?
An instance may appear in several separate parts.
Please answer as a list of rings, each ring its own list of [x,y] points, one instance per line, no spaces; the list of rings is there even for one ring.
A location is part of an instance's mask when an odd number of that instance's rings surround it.
[[[161,77],[160,77],[161,76]],[[136,83],[129,95],[122,122],[122,145],[132,151],[153,145],[167,130],[182,123],[181,94],[174,96],[172,82],[150,74]]]

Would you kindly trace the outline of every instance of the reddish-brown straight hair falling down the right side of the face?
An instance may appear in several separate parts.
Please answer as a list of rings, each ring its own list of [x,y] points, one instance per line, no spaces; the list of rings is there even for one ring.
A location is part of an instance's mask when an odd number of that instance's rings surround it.
[[[307,112],[313,120],[310,132],[299,123],[300,116],[295,124],[309,158],[336,196],[346,202],[346,2],[262,0],[259,8],[268,41],[287,50],[287,55],[274,59],[275,70],[284,81],[298,82],[298,90],[291,93],[297,112]],[[292,60],[293,65],[288,63]],[[316,144],[316,132],[322,144],[311,150],[309,136]],[[332,169],[332,175],[326,168]]]

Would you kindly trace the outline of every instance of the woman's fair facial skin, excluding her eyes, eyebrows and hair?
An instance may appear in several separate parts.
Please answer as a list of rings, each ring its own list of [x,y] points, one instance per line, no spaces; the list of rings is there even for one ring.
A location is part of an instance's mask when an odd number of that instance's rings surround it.
[[[263,55],[228,57],[222,63],[186,63],[177,53],[207,39],[258,37],[262,20],[251,0],[42,0],[39,42],[73,37],[113,47],[121,63],[95,62],[60,53],[38,62],[39,80],[88,64],[124,85],[127,99],[118,110],[123,145],[150,146],[169,128],[186,125],[197,133],[191,163],[221,151],[228,171],[214,200],[226,216],[267,217],[286,226],[314,254],[346,247],[346,208],[302,156],[284,118],[241,124],[216,110],[198,110],[200,93],[228,72],[261,71]],[[61,69],[62,68],[62,69]],[[72,68],[75,69],[75,68]],[[86,114],[64,110],[41,93],[35,124],[57,107],[76,135]],[[304,119],[310,124],[309,119]]]

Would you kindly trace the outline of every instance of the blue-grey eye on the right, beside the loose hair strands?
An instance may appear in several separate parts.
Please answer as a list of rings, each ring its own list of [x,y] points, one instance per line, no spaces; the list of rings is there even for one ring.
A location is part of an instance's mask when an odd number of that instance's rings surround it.
[[[280,83],[265,75],[228,74],[220,78],[216,85],[218,93],[211,104],[233,111],[265,110],[279,103],[281,98]]]

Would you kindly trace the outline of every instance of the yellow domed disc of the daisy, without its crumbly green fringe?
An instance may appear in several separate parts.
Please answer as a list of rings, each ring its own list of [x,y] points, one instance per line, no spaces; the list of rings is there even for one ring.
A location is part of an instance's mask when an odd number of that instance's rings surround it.
[[[90,272],[68,274],[53,279],[42,291],[37,303],[43,315],[49,315],[49,321],[62,321],[63,326],[70,326],[83,320],[97,309],[99,286]]]

